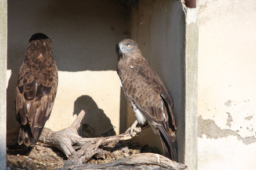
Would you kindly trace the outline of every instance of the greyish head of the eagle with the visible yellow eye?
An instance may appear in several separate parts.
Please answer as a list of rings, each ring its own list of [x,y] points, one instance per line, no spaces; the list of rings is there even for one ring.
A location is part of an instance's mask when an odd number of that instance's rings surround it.
[[[123,39],[117,43],[116,52],[118,60],[122,56],[133,56],[139,50],[138,43],[132,39]]]

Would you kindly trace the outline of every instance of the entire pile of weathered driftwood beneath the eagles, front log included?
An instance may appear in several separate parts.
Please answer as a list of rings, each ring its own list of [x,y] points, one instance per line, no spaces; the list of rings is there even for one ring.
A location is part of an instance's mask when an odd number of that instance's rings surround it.
[[[186,166],[171,161],[164,156],[153,153],[136,154],[123,159],[111,162],[109,164],[84,164],[93,156],[104,154],[104,150],[100,146],[113,147],[119,141],[132,139],[140,131],[146,127],[135,127],[136,122],[124,134],[99,137],[99,138],[82,138],[78,135],[77,130],[80,127],[81,121],[85,116],[84,110],[78,114],[74,123],[60,131],[52,131],[49,128],[44,128],[39,138],[39,142],[52,145],[63,151],[66,157],[70,159],[66,162],[63,169],[185,169]],[[19,128],[9,130],[7,133],[7,145],[17,145]],[[79,149],[75,151],[75,149]],[[94,167],[95,166],[95,167]],[[105,167],[104,167],[105,166]]]

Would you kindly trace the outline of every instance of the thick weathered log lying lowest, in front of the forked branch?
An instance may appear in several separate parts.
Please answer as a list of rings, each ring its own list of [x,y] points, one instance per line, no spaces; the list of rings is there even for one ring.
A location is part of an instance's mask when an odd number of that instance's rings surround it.
[[[62,170],[73,169],[187,169],[186,165],[169,160],[168,158],[154,153],[140,153],[123,159],[110,162],[109,164],[73,164]]]

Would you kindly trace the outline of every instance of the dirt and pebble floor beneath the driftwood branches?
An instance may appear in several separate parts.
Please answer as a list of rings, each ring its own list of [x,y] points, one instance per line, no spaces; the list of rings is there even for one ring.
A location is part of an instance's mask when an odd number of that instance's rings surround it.
[[[149,146],[140,146],[133,141],[121,141],[115,147],[102,148],[103,152],[100,155],[94,156],[88,163],[104,164],[113,162],[120,158],[130,156],[138,153],[158,153],[156,149],[151,149]],[[55,147],[45,145],[44,143],[37,143],[34,149],[28,156],[7,154],[6,169],[57,169],[64,166],[68,159],[64,156],[62,151]]]

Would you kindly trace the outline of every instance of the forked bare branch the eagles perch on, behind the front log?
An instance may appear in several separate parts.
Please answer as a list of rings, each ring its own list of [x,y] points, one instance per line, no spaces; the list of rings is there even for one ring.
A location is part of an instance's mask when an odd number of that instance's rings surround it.
[[[84,110],[81,110],[73,124],[60,131],[55,132],[49,128],[44,128],[38,141],[57,147],[57,149],[61,150],[67,158],[71,156],[71,154],[74,154],[71,160],[67,162],[67,165],[71,165],[73,163],[82,164],[83,162],[88,161],[96,153],[101,152],[99,146],[113,146],[119,141],[125,141],[133,138],[140,131],[142,131],[142,128],[135,127],[134,131],[132,132],[129,131],[131,129],[129,128],[124,134],[116,136],[108,136],[105,138],[82,138],[80,135],[78,135],[77,130],[80,127],[81,121],[84,116],[85,112]],[[8,131],[6,142],[8,147],[18,145],[18,136],[19,128]],[[80,150],[75,152],[75,149]]]

